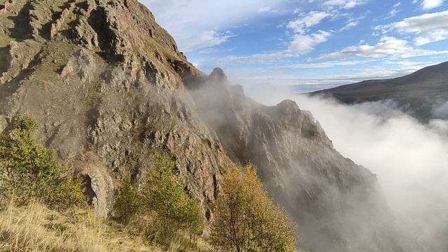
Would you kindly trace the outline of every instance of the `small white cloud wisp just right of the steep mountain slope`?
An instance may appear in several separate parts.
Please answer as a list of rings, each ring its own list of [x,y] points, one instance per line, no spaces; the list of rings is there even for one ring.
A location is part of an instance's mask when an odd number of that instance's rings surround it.
[[[197,49],[211,48],[215,45],[221,45],[229,40],[229,38],[234,37],[235,34],[230,33],[230,31],[225,34],[220,34],[217,31],[204,31],[200,36],[191,38],[183,45],[183,50],[185,52],[191,52]]]

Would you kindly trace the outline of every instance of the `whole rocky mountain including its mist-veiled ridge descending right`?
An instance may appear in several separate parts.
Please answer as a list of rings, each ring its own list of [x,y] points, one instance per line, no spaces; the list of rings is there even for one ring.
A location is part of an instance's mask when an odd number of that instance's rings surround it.
[[[18,114],[85,176],[99,216],[130,172],[163,152],[213,221],[222,174],[252,163],[309,251],[419,251],[398,235],[377,181],[292,101],[264,106],[225,73],[195,69],[135,0],[9,0],[0,10],[0,132]]]

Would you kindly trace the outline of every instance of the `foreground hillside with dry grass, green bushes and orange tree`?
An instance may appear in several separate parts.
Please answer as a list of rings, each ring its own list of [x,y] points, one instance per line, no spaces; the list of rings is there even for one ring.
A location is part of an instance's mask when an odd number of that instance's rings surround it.
[[[34,119],[21,116],[13,126],[0,134],[0,252],[211,251],[200,204],[176,179],[171,157],[160,154],[143,185],[126,176],[106,219],[85,197],[81,177],[62,176],[66,169],[54,152],[36,141]],[[215,209],[215,222],[225,225],[209,229],[220,241],[212,242],[215,251],[295,251],[295,226],[269,199],[255,169],[246,169],[252,175],[246,180],[239,167],[232,171]]]

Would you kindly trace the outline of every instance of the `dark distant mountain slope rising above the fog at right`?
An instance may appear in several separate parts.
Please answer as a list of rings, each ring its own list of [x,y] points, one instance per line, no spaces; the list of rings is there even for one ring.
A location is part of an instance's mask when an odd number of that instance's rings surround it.
[[[412,116],[427,121],[437,118],[433,110],[448,101],[448,62],[400,78],[365,80],[311,95],[330,95],[346,104],[391,99]]]

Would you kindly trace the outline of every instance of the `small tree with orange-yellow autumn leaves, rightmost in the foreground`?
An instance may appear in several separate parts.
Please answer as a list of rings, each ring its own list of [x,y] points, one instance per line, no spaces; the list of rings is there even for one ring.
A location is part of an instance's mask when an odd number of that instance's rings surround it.
[[[211,241],[218,251],[295,251],[295,225],[262,188],[255,169],[230,169],[221,180]]]

